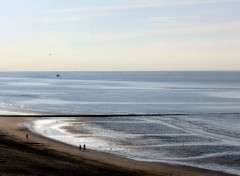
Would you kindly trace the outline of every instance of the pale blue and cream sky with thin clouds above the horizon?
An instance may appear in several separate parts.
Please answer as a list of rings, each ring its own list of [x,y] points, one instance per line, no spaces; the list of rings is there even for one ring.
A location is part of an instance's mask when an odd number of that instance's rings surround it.
[[[0,71],[240,70],[240,0],[0,0]]]

